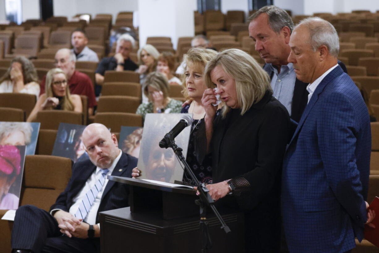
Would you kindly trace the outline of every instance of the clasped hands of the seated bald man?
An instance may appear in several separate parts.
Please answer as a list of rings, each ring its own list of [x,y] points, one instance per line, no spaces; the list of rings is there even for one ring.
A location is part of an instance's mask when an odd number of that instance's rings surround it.
[[[76,218],[74,215],[63,210],[59,210],[54,214],[61,233],[68,237],[88,238],[89,225],[82,219]]]

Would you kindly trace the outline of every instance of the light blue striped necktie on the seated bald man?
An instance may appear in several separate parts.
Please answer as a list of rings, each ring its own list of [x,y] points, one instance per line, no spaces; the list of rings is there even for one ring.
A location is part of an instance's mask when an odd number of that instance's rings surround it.
[[[97,194],[99,194],[99,192],[103,188],[105,177],[108,171],[108,169],[102,170],[99,180],[97,180],[97,182],[91,188],[91,190],[87,191],[86,196],[84,196],[83,199],[81,199],[81,203],[78,210],[75,213],[75,217],[77,217],[78,219],[82,219],[83,221],[87,217],[89,209],[94,203]]]

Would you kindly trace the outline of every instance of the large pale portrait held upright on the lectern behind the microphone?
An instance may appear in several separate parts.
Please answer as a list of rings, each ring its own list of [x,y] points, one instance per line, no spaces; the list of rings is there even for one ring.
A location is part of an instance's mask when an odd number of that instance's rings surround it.
[[[140,179],[174,183],[182,181],[183,169],[171,148],[162,149],[159,142],[180,120],[183,114],[146,114],[141,141],[141,152],[137,167],[141,171]],[[190,128],[185,128],[175,143],[183,149],[186,156]]]

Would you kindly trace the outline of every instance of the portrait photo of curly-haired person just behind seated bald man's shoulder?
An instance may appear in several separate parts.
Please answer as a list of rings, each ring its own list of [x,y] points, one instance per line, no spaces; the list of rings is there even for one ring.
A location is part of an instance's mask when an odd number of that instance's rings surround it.
[[[136,126],[121,126],[119,149],[122,152],[138,158],[141,148],[143,128]]]

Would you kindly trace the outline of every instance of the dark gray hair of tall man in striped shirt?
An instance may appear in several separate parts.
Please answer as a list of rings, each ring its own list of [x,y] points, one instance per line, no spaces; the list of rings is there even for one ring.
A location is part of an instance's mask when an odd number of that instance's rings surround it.
[[[288,15],[287,11],[274,5],[268,5],[258,9],[247,21],[253,21],[262,13],[267,14],[268,23],[274,32],[279,33],[283,27],[287,26],[292,33],[294,25],[290,15]]]

